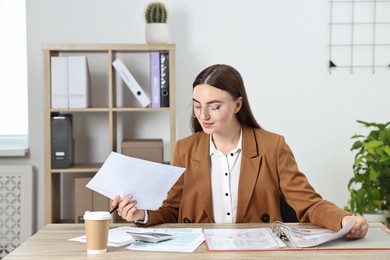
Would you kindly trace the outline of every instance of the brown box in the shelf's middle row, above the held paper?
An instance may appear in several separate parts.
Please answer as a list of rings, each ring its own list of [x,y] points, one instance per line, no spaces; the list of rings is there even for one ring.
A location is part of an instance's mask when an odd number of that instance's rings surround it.
[[[122,154],[152,162],[163,163],[162,139],[128,139],[122,142]]]

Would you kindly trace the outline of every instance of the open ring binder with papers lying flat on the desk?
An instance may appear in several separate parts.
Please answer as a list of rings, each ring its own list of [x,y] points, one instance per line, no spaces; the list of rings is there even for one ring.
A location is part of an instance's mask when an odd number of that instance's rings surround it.
[[[306,224],[311,225],[311,227],[301,228]],[[292,226],[281,221],[275,221],[267,227],[214,228],[204,229],[203,233],[207,251],[210,252],[281,250],[282,248],[288,250],[390,249],[387,245],[390,236],[386,231],[380,229],[377,230],[376,234],[370,235],[369,239],[345,239],[345,234],[355,224],[354,217],[338,232],[316,227],[310,223],[306,224],[299,224],[297,228],[297,225]],[[381,239],[375,240],[374,237],[381,237]]]

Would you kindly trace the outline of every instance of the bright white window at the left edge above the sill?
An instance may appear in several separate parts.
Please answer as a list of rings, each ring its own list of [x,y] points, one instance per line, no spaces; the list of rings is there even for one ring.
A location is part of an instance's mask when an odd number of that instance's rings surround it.
[[[0,0],[0,137],[27,136],[25,0]]]

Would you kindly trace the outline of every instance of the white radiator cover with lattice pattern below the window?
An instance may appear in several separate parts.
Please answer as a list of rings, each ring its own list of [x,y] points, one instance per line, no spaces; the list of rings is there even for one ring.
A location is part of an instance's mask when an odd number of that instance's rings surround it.
[[[0,259],[33,231],[32,166],[0,165]]]

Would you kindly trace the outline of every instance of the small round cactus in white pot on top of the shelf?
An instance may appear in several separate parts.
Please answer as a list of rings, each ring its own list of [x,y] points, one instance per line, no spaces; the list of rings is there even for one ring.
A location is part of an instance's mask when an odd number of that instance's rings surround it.
[[[145,10],[147,43],[159,44],[168,43],[168,12],[165,5],[161,2],[150,3]]]

